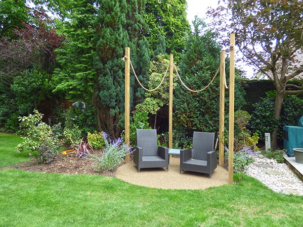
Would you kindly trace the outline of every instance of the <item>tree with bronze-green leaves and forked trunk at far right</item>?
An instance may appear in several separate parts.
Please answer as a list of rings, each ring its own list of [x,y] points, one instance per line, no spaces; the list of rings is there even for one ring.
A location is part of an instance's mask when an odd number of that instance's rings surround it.
[[[260,72],[271,79],[276,88],[275,119],[279,119],[283,99],[288,94],[303,93],[302,87],[289,84],[289,80],[303,72],[298,58],[303,53],[303,2],[236,0],[224,1],[228,9],[212,11],[217,28],[227,30],[219,21],[230,17],[230,31],[236,33],[236,44]],[[226,15],[228,12],[228,17]],[[219,25],[218,25],[219,24]],[[294,89],[289,89],[292,87]],[[277,148],[278,128],[272,134],[272,148]]]

